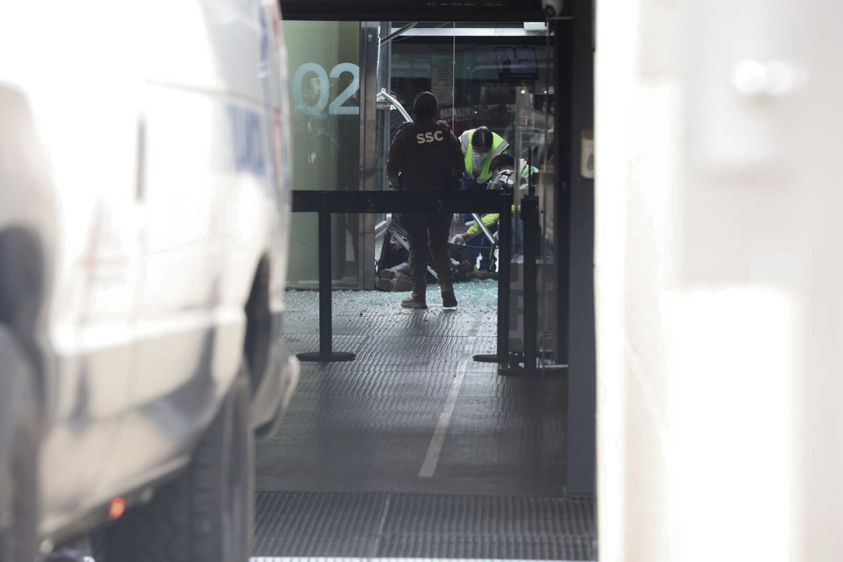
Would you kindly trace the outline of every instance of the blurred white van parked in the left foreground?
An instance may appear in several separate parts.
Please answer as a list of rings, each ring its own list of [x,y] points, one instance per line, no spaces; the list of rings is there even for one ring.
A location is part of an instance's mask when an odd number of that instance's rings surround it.
[[[273,0],[0,5],[0,562],[248,558],[298,380],[285,56]]]

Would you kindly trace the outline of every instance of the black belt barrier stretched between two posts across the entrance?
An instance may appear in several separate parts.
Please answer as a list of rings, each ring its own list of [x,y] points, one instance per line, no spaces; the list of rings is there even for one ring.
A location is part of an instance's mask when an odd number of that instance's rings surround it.
[[[348,351],[331,349],[330,215],[342,213],[436,212],[501,213],[498,237],[502,256],[509,255],[513,194],[503,191],[310,191],[293,190],[293,212],[319,213],[319,353],[299,353],[300,361],[352,361]],[[506,258],[504,258],[506,259]],[[497,354],[507,362],[509,268],[499,267],[497,289]],[[504,291],[501,291],[504,287]],[[475,360],[484,361],[475,356]]]

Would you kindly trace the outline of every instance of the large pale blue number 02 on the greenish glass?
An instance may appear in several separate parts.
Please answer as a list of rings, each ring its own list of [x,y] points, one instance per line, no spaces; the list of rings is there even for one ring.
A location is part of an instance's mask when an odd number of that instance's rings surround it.
[[[360,90],[360,67],[341,62],[325,71],[316,62],[305,62],[293,75],[293,107],[304,115],[360,115],[360,103],[347,104]]]

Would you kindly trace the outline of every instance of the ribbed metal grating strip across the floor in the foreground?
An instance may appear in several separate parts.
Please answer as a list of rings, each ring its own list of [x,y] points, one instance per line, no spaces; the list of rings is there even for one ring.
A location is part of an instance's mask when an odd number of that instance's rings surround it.
[[[255,556],[593,560],[588,498],[260,492]]]

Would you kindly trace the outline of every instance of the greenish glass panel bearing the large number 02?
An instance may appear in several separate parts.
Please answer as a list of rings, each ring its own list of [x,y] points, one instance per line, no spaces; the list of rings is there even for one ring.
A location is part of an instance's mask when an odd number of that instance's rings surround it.
[[[285,21],[293,104],[293,189],[359,189],[360,24]],[[331,217],[334,286],[357,287],[358,217]],[[293,213],[289,287],[316,287],[319,233],[314,213]]]

